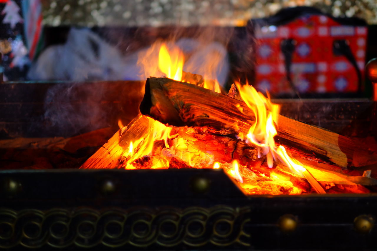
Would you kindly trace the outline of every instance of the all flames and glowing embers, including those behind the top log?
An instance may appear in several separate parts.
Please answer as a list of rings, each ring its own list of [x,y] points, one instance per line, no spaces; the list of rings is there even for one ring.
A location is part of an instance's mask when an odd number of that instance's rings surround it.
[[[151,46],[146,55],[147,58],[139,60],[144,66],[146,77],[165,76],[176,81],[185,81],[182,76],[187,55],[184,55],[178,46],[159,41]],[[156,61],[158,63],[155,63]],[[209,70],[212,68],[213,66],[208,66]],[[203,76],[202,87],[221,93],[218,81],[211,80],[208,76],[213,76],[213,72]],[[282,145],[276,144],[274,137],[277,135],[280,106],[272,103],[268,94],[264,96],[248,84],[241,85],[236,82],[236,86],[242,100],[255,117],[255,122],[247,134],[239,133],[236,136],[257,149],[254,151],[257,152],[255,155],[258,159],[234,157],[233,153],[229,153],[234,152],[231,148],[224,149],[224,156],[219,155],[217,146],[211,148],[206,144],[207,140],[213,140],[213,136],[206,134],[206,128],[169,127],[148,118],[149,125],[145,135],[126,142],[128,149],[123,149],[123,168],[222,168],[249,194],[280,194],[282,190],[289,194],[300,194],[305,191],[291,182],[290,176],[284,173],[286,171],[300,179],[306,178],[318,193],[325,193],[307,168],[292,158]],[[241,105],[238,109],[244,112]],[[119,126],[123,127],[121,121]],[[201,146],[199,141],[203,142],[204,146]],[[217,157],[214,156],[216,153]],[[268,168],[262,163],[264,158]],[[277,167],[281,166],[289,167],[290,170],[277,170]]]

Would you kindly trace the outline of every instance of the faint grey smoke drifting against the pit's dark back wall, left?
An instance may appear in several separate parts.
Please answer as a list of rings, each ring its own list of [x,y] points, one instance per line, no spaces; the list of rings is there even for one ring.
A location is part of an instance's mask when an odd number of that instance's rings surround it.
[[[46,93],[44,120],[59,136],[109,127],[109,111],[101,104],[103,93],[101,84],[56,84]]]

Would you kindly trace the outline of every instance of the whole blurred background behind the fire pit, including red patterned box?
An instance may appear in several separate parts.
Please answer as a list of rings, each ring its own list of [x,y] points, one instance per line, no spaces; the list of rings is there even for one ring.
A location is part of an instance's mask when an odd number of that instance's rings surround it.
[[[225,90],[240,79],[274,98],[372,95],[374,0],[0,2],[4,81],[145,80],[140,55],[167,40],[193,73],[213,64]]]

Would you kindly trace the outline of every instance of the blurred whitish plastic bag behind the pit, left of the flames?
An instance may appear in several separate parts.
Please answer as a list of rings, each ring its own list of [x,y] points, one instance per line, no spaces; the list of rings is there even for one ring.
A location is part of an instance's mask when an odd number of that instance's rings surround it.
[[[66,43],[48,47],[32,65],[32,80],[120,80],[124,63],[116,47],[89,29],[71,28]]]

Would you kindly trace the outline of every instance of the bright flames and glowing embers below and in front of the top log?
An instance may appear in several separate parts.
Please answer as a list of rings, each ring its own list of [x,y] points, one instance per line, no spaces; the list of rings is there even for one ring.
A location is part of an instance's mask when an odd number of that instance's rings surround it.
[[[172,72],[174,71],[170,71]],[[269,168],[261,167],[262,161],[241,160],[233,158],[233,154],[230,161],[218,159],[221,158],[219,155],[215,158],[213,148],[206,144],[207,140],[213,139],[211,138],[213,136],[206,134],[207,130],[210,130],[208,128],[169,127],[149,117],[147,117],[149,123],[147,133],[139,139],[128,142],[129,147],[123,153],[125,160],[123,167],[129,170],[136,168],[222,168],[248,194],[280,194],[282,191],[287,191],[289,194],[302,193],[302,188],[295,187],[290,177],[284,174],[281,168],[277,171],[271,169],[284,165],[289,167],[297,177],[306,178],[318,193],[325,193],[307,168],[292,158],[282,145],[274,141],[274,136],[277,135],[279,105],[273,104],[268,95],[265,97],[248,84],[241,86],[236,83],[236,86],[241,98],[253,111],[255,117],[255,122],[247,135],[239,136],[247,144],[257,148],[257,158],[265,156]],[[204,145],[201,146],[199,141],[202,141]],[[218,151],[217,146],[214,148],[215,152]]]

